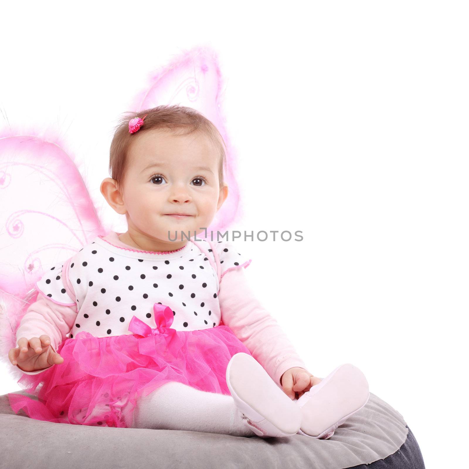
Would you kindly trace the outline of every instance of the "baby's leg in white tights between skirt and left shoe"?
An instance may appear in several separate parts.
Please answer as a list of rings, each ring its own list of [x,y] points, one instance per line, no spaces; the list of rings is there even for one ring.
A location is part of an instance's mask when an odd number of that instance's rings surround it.
[[[230,395],[200,391],[176,381],[137,401],[131,427],[254,436]]]

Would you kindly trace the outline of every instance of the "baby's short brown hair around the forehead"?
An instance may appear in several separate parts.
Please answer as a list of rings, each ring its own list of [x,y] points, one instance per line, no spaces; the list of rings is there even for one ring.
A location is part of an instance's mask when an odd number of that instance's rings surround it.
[[[129,132],[129,120],[134,117],[143,118],[145,114],[146,117],[141,129],[131,134]],[[173,132],[179,129],[188,129],[187,132],[178,132],[176,135],[188,135],[198,131],[210,137],[220,153],[219,182],[220,188],[223,186],[223,168],[226,167],[226,144],[215,125],[191,107],[162,105],[137,113],[125,113],[115,127],[109,151],[109,174],[117,182],[118,188],[122,187],[132,139],[135,139],[142,132],[148,132],[152,129],[166,129]]]

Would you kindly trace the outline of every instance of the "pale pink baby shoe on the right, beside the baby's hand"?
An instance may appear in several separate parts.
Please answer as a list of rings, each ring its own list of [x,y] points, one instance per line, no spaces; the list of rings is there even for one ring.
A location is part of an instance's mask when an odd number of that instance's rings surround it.
[[[298,433],[328,439],[349,416],[363,408],[369,398],[365,375],[350,363],[340,365],[294,401],[302,410]]]

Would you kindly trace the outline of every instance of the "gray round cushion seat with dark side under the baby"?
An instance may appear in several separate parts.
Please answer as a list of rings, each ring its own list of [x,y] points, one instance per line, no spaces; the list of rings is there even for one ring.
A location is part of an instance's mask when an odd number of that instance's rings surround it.
[[[401,414],[373,393],[327,440],[55,424],[30,419],[23,411],[15,415],[5,394],[0,396],[0,448],[1,469],[341,469],[374,461],[366,467],[424,469]]]

